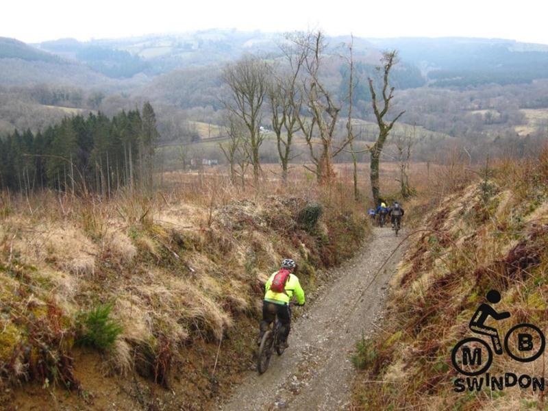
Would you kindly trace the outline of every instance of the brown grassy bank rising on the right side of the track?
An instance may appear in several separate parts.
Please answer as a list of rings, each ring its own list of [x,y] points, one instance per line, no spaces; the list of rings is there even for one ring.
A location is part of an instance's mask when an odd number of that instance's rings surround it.
[[[472,336],[468,323],[491,289],[502,295],[496,310],[511,313],[497,322],[501,336],[523,322],[547,329],[548,153],[497,162],[475,173],[470,184],[463,173],[452,181],[459,176],[451,190],[423,198],[421,210],[432,212],[417,225],[392,281],[388,321],[358,343],[356,410],[547,409],[539,390],[457,393],[453,382],[462,375],[453,369],[451,350]],[[489,372],[545,377],[545,359],[521,363],[495,356]]]

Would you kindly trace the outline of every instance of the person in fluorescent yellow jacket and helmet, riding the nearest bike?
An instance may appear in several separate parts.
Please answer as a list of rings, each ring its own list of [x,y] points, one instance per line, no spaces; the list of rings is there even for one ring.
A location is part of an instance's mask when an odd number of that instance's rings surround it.
[[[293,274],[295,271],[295,261],[286,258],[282,261],[282,269],[289,271],[290,275],[287,279],[284,292],[275,292],[271,290],[272,281],[277,275],[278,271],[272,273],[269,278],[269,281],[266,282],[264,286],[264,301],[262,302],[262,321],[260,322],[260,334],[258,339],[258,344],[262,339],[262,336],[269,329],[269,325],[275,320],[275,317],[278,317],[281,327],[280,332],[280,346],[287,348],[287,338],[291,329],[291,309],[289,301],[295,295],[297,298],[297,303],[299,306],[304,306],[305,297],[303,288],[299,284],[299,278],[297,275]]]

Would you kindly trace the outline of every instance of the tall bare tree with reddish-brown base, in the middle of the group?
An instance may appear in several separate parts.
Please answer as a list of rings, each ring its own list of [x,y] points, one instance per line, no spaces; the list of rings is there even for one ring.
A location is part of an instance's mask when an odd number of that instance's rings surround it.
[[[333,158],[343,151],[350,141],[344,138],[339,147],[333,147],[340,105],[336,104],[320,76],[322,53],[326,47],[325,36],[321,31],[317,31],[294,34],[289,40],[295,45],[295,54],[303,59],[303,68],[306,71],[301,82],[301,93],[303,104],[308,109],[308,116],[297,112],[297,121],[305,135],[315,166],[315,169],[307,169],[316,174],[320,184],[329,184],[335,175]],[[319,150],[316,151],[314,145],[317,145]]]

